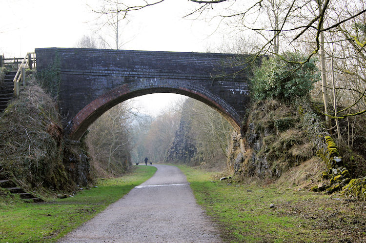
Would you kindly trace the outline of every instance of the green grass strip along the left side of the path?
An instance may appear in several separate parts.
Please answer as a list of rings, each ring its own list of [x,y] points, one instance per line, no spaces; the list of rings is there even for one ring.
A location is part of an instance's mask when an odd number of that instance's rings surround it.
[[[98,188],[48,203],[0,203],[0,242],[54,242],[93,218],[133,187],[150,178],[153,166],[133,166],[123,177],[100,180]]]

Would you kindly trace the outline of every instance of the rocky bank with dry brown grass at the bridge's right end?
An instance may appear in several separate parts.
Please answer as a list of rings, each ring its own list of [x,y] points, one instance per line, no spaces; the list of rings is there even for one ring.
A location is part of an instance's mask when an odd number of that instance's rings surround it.
[[[245,121],[244,162],[239,174],[271,180],[315,156],[294,104],[258,101],[248,109]],[[240,152],[234,151],[232,157]]]

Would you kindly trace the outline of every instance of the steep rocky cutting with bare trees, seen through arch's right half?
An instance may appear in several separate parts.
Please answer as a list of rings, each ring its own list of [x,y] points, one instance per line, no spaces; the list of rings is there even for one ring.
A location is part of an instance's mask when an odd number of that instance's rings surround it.
[[[226,162],[232,126],[201,101],[188,98],[181,105],[182,118],[165,162],[215,166]]]

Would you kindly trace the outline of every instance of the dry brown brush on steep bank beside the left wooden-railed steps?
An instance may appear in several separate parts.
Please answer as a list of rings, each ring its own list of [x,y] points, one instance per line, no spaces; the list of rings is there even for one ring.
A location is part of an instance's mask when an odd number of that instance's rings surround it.
[[[63,164],[61,121],[55,101],[35,79],[0,117],[0,167],[5,178],[32,190],[68,190],[74,182]]]

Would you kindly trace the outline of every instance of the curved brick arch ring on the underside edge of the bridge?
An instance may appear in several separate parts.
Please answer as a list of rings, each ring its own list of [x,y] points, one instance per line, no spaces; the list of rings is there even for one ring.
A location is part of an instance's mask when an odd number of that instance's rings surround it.
[[[111,89],[97,99],[85,105],[65,127],[65,134],[71,140],[80,140],[90,124],[104,112],[123,101],[134,97],[153,93],[176,93],[191,97],[211,106],[240,132],[240,116],[238,112],[220,97],[200,85],[190,85],[187,81],[171,81],[156,79],[137,79]]]

